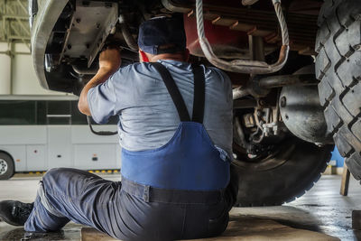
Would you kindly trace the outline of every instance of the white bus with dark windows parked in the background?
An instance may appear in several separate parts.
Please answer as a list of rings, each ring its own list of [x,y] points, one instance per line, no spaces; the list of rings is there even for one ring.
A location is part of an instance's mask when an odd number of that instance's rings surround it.
[[[116,119],[95,126],[116,131]],[[118,170],[117,135],[91,133],[77,97],[0,96],[0,180],[55,167]]]

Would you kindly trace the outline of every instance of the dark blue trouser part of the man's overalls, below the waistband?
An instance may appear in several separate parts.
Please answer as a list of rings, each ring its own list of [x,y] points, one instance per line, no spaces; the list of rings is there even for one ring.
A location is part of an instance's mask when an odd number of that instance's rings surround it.
[[[199,201],[197,191],[194,202],[191,191],[167,193],[169,197],[153,192],[147,186],[126,180],[122,185],[87,171],[51,169],[42,178],[24,228],[56,231],[71,220],[122,240],[175,240],[218,236],[227,227],[233,203],[227,191],[220,199],[205,201]]]

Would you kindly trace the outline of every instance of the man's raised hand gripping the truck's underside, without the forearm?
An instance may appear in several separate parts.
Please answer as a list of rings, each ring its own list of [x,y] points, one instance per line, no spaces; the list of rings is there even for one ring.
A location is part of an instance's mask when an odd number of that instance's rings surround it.
[[[99,55],[99,70],[105,70],[113,74],[120,68],[121,63],[122,59],[117,49],[108,48]]]

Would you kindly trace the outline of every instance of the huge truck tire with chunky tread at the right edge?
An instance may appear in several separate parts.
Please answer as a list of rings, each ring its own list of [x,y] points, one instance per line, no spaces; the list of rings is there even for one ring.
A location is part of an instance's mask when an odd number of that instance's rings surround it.
[[[316,77],[328,132],[361,179],[361,2],[326,0],[319,13]]]

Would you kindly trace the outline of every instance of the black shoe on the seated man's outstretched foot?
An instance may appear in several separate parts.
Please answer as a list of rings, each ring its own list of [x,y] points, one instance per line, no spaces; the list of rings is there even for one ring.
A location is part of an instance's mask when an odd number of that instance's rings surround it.
[[[33,203],[5,200],[0,201],[0,218],[13,226],[23,226],[32,212]]]

